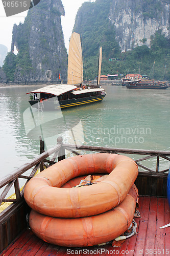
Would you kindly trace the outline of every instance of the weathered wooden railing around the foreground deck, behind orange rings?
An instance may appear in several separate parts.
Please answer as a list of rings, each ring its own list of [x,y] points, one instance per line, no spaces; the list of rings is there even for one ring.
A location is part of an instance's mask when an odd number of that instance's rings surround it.
[[[139,174],[142,176],[152,176],[152,177],[167,177],[168,167],[170,162],[167,163],[167,168],[160,170],[160,158],[170,161],[170,151],[150,151],[150,150],[131,150],[128,148],[113,148],[113,147],[99,147],[99,146],[89,146],[89,145],[73,145],[73,144],[63,144],[62,138],[57,139],[57,145],[51,150],[44,151],[44,142],[40,138],[40,155],[34,158],[31,162],[22,165],[15,172],[10,173],[0,180],[0,189],[4,188],[0,196],[0,205],[3,202],[17,202],[19,201],[24,192],[24,187],[20,191],[19,188],[19,178],[26,179],[26,183],[36,174],[37,170],[42,171],[45,167],[48,167],[57,161],[65,158],[65,151],[71,152],[72,155],[82,155],[85,152],[92,153],[113,153],[113,154],[128,154],[128,155],[140,155],[138,159],[134,159],[139,166]],[[54,154],[54,155],[53,155]],[[48,156],[52,156],[52,160],[46,159]],[[148,160],[151,158],[156,158],[156,169],[151,169],[150,167],[141,164],[141,161]],[[32,169],[33,168],[33,169]],[[24,175],[27,170],[31,169],[31,174],[29,176]],[[142,170],[141,170],[142,169]],[[15,199],[6,199],[9,190],[14,185],[14,190],[16,194]]]

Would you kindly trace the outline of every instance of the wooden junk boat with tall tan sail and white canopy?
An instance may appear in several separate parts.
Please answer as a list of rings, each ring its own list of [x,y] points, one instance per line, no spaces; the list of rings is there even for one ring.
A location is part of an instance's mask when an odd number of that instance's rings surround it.
[[[99,85],[101,65],[102,47],[99,54],[96,86],[94,84],[83,84],[83,57],[80,35],[75,32],[72,33],[68,52],[67,84],[51,84],[28,92],[27,94],[33,94],[34,96],[30,95],[29,103],[40,110],[57,110],[102,101],[106,92]]]

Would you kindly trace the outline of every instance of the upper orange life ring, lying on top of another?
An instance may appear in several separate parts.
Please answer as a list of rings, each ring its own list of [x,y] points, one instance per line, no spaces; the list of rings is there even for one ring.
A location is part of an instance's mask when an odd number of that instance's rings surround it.
[[[61,188],[77,176],[109,174],[91,186]],[[101,214],[122,202],[138,175],[137,164],[117,154],[89,154],[64,159],[33,177],[25,187],[28,205],[52,217]]]

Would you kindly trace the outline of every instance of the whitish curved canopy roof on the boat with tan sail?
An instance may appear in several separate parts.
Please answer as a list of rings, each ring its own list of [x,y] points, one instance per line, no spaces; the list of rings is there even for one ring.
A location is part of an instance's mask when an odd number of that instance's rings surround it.
[[[40,89],[28,92],[26,94],[29,94],[29,93],[47,93],[47,94],[53,94],[55,96],[59,96],[63,93],[72,91],[76,88],[77,88],[77,86],[72,86],[72,85],[69,85],[69,84],[52,84],[50,86],[42,87]]]

